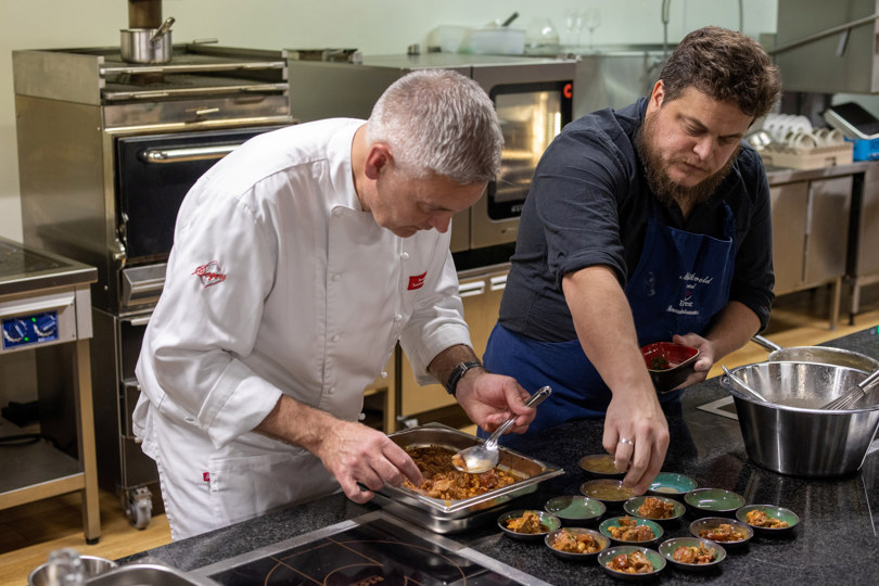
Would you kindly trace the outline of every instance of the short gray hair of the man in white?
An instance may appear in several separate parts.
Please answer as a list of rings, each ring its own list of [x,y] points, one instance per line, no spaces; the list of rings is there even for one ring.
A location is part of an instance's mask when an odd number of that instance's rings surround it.
[[[392,84],[372,109],[367,140],[386,143],[408,177],[436,174],[459,184],[493,180],[504,148],[492,100],[448,69],[418,69]]]

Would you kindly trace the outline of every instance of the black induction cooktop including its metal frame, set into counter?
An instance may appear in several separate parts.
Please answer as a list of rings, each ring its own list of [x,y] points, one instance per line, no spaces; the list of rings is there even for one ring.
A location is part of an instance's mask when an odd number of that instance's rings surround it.
[[[225,586],[546,584],[382,511],[194,571]]]

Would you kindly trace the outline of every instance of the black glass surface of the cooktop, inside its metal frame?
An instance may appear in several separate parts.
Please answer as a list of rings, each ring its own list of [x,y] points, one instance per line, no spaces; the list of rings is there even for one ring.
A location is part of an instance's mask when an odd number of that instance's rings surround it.
[[[226,586],[519,584],[382,519],[209,577]]]

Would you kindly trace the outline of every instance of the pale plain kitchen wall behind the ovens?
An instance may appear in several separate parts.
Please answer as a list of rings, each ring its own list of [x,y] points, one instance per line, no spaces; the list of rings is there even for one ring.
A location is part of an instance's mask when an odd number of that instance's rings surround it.
[[[687,31],[715,24],[759,37],[775,31],[775,0],[672,0],[668,42]],[[365,54],[403,53],[411,43],[425,46],[438,25],[482,26],[505,20],[526,28],[548,17],[562,36],[565,12],[597,8],[601,24],[596,44],[661,43],[661,0],[164,0],[164,16],[174,16],[174,41],[217,38],[221,44],[258,49],[345,47]],[[18,164],[12,51],[113,47],[128,26],[125,0],[0,1],[0,235],[21,240]],[[582,41],[588,33],[584,29]]]

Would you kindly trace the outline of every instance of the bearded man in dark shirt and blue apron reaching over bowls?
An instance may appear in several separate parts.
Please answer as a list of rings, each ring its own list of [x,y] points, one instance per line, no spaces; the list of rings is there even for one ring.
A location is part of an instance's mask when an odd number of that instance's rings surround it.
[[[756,41],[705,27],[677,46],[650,97],[568,125],[535,171],[484,362],[526,388],[552,386],[528,435],[603,416],[603,447],[636,494],[665,459],[661,404],[768,321],[769,188],[742,137],[779,93]],[[664,395],[640,353],[659,341],[699,349]]]

